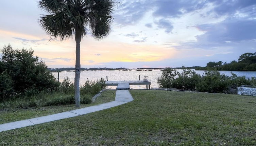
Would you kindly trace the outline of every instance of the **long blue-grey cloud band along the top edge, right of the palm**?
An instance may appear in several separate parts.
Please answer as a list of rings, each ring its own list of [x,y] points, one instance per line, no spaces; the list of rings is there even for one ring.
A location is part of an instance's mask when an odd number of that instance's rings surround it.
[[[122,26],[135,25],[147,12],[153,10],[152,17],[180,18],[191,12],[196,12],[213,5],[208,14],[215,13],[216,17],[245,13],[251,17],[256,16],[255,0],[153,0],[153,1],[126,1],[114,14],[115,22]],[[151,28],[150,23],[145,25]]]

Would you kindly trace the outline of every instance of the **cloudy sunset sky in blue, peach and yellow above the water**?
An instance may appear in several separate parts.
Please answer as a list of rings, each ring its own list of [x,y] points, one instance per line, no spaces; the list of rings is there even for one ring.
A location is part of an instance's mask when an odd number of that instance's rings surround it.
[[[256,0],[123,0],[111,33],[81,41],[81,67],[165,68],[256,52]],[[75,40],[50,40],[36,0],[0,1],[0,48],[32,48],[49,68],[74,67]],[[1,54],[0,54],[1,55]]]

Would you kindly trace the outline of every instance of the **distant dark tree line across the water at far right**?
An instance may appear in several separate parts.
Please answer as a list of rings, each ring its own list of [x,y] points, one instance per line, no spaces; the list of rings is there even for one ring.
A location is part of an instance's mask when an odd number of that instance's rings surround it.
[[[227,62],[208,62],[206,67],[197,67],[195,70],[220,70],[220,71],[255,71],[256,70],[256,52],[244,53],[239,56],[238,61]]]

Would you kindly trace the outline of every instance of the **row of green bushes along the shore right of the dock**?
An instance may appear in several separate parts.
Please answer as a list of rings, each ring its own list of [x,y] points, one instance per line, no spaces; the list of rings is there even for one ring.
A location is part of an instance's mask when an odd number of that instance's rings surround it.
[[[237,76],[231,72],[231,76],[221,74],[217,70],[205,71],[201,76],[191,69],[185,69],[182,73],[167,68],[161,77],[157,78],[159,88],[177,88],[199,92],[215,92],[237,94],[237,87],[241,85],[256,85],[256,78]]]

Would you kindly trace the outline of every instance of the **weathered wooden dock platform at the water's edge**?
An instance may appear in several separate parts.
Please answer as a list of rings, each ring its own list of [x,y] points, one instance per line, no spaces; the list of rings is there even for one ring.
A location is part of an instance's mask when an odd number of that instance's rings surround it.
[[[126,84],[124,84],[124,83],[126,83]],[[108,80],[108,81],[106,81],[105,85],[106,86],[117,86],[117,88],[119,86],[124,88],[124,86],[127,87],[127,85],[146,85],[147,89],[148,89],[148,86],[150,88],[151,82],[150,81],[143,81],[143,80],[118,80],[118,81]],[[129,89],[130,89],[130,86],[129,86]]]

